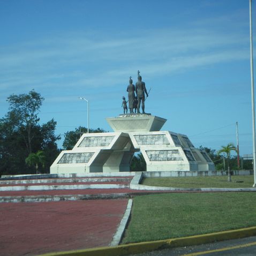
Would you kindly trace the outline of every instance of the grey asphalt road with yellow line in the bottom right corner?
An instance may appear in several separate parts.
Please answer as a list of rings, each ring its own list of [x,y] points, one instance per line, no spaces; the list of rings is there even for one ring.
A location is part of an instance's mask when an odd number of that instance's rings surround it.
[[[205,245],[186,246],[174,249],[165,249],[130,256],[255,256],[256,236],[241,239],[227,240]]]

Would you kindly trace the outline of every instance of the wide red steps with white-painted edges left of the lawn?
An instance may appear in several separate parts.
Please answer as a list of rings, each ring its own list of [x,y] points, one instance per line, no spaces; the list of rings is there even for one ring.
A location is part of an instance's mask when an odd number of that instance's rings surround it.
[[[97,198],[99,194],[103,194],[103,198],[110,198],[110,194],[119,194],[114,195],[114,198],[122,198],[127,197],[126,193],[132,191],[130,190],[132,175],[93,175],[86,177],[44,175],[39,178],[29,176],[18,179],[5,177],[4,180],[0,180],[0,202],[86,200]]]

